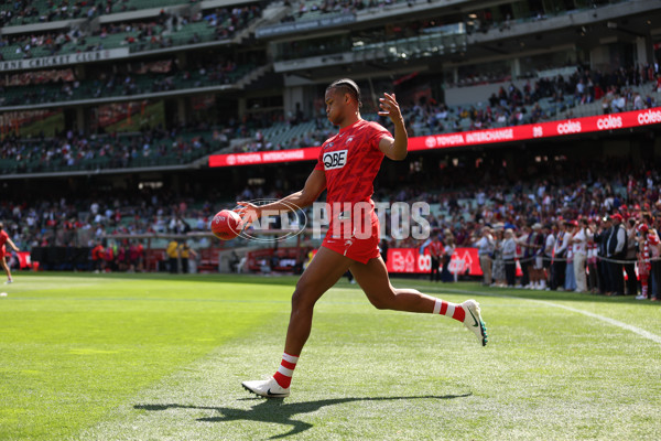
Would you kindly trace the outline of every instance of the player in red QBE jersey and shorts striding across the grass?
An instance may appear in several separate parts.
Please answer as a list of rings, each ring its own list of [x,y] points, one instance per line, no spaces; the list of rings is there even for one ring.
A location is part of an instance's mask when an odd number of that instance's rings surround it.
[[[394,125],[394,137],[380,125],[360,117],[360,89],[351,79],[332,83],[324,100],[327,118],[339,127],[339,132],[323,143],[303,190],[267,205],[238,203],[245,223],[267,213],[312,205],[324,190],[332,207],[324,241],[292,294],[280,367],[269,379],[242,383],[245,389],[266,398],[289,397],[294,368],[311,333],[314,305],[347,270],[377,309],[446,315],[474,332],[483,345],[487,344],[486,325],[475,300],[449,303],[414,289],[394,288],[379,255],[379,219],[371,200],[373,180],[383,157],[401,161],[408,153],[404,119],[394,94],[383,94],[379,111]]]

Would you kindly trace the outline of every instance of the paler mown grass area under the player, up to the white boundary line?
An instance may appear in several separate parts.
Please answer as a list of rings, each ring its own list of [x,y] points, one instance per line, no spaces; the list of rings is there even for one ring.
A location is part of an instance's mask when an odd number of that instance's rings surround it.
[[[317,304],[291,398],[240,388],[277,367],[283,311],[79,438],[653,439],[659,367],[643,370],[649,354],[631,351],[638,337],[599,335],[596,322],[577,333],[576,314],[527,300],[484,302],[499,338],[481,348],[451,320],[375,311],[360,290],[332,289]]]

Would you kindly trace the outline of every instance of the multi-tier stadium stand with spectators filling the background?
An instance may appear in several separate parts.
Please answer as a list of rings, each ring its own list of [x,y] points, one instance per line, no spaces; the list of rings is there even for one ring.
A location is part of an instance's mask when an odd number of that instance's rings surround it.
[[[376,103],[395,92],[411,137],[654,110],[659,19],[642,0],[3,2],[0,218],[24,249],[205,230],[216,204],[281,195],[311,166],[207,158],[319,146],[338,77],[386,126]],[[429,201],[462,245],[480,220],[600,216],[616,196],[655,214],[657,131],[415,152],[383,164],[378,197]]]

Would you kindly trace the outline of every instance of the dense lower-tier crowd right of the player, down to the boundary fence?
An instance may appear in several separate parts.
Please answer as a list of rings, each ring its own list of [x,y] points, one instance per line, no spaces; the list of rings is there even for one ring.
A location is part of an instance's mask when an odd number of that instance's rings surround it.
[[[661,175],[653,169],[633,173],[616,163],[600,165],[606,171],[596,175],[559,164],[555,176],[562,178],[542,173],[545,179],[514,185],[488,171],[481,176],[444,171],[443,194],[410,187],[392,200],[440,203],[441,216],[430,218],[432,235],[453,247],[478,247],[485,284],[636,295],[636,268],[651,275],[650,283],[654,280],[653,290],[648,294],[643,284],[639,298],[655,300],[661,295]],[[540,172],[529,171],[530,176]],[[484,186],[472,189],[466,176]],[[466,186],[453,192],[451,182]],[[393,245],[420,246],[412,238]]]

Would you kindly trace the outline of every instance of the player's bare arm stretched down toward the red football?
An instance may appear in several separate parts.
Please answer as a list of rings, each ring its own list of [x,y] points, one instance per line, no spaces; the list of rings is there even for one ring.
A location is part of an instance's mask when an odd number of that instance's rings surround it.
[[[239,202],[238,205],[241,208],[238,209],[238,213],[242,218],[250,219],[253,216],[260,218],[267,212],[270,214],[292,212],[312,205],[324,190],[326,190],[326,174],[323,170],[313,170],[307,176],[303,190],[266,205],[258,206],[249,202]]]

